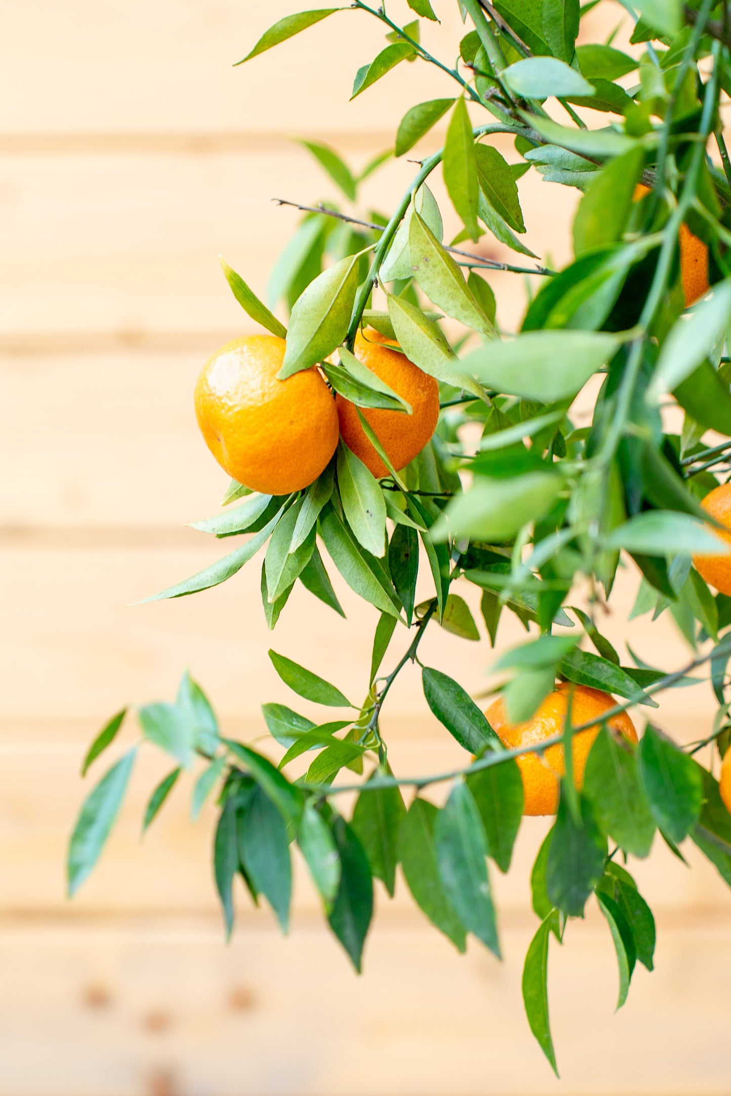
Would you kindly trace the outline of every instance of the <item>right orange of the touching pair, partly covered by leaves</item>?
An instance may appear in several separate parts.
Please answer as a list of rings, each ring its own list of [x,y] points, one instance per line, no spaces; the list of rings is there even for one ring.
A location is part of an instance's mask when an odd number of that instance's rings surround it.
[[[401,471],[421,452],[437,429],[439,383],[404,354],[388,350],[388,343],[396,345],[393,340],[384,339],[378,331],[368,328],[366,338],[360,331],[356,335],[353,353],[359,362],[411,404],[413,414],[378,408],[360,409],[392,465]],[[355,404],[338,395],[335,406],[340,435],[348,448],[360,457],[376,479],[387,476],[388,469],[366,437]]]

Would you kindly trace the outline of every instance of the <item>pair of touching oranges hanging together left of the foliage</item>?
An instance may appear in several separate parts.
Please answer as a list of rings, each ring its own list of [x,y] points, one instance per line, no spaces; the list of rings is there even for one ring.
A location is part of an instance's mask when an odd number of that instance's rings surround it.
[[[411,414],[363,409],[396,471],[416,457],[437,429],[439,384],[372,329],[358,332],[353,353],[411,407]],[[386,476],[353,403],[333,398],[316,366],[278,377],[286,343],[245,335],[206,363],[196,385],[198,425],[221,467],[252,491],[289,494],[327,467],[343,437],[375,477]]]

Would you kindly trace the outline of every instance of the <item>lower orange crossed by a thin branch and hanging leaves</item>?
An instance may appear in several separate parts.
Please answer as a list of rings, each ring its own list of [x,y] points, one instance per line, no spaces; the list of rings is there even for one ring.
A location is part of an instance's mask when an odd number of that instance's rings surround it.
[[[542,701],[538,710],[524,723],[511,723],[508,719],[503,697],[492,704],[485,712],[487,720],[500,741],[509,750],[518,746],[533,745],[545,742],[564,731],[566,711],[568,708],[569,689],[573,688],[571,705],[571,722],[575,726],[600,719],[603,712],[614,708],[616,701],[608,693],[585,685],[569,685],[562,682]],[[612,716],[610,727],[619,731],[629,742],[637,742],[637,731],[626,711]],[[601,723],[579,731],[571,742],[573,755],[573,783],[579,790],[583,786],[583,772],[587,757],[594,739],[599,734]],[[527,753],[517,757],[523,778],[523,813],[555,814],[558,810],[559,780],[566,773],[564,746],[548,746],[542,754]]]

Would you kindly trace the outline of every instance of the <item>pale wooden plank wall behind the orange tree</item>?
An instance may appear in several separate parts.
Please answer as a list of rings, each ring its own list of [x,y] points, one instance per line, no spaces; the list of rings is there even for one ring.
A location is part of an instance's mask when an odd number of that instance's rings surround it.
[[[140,843],[143,799],[163,772],[152,753],[95,876],[72,904],[63,897],[80,760],[121,703],[171,697],[189,665],[225,730],[254,739],[259,705],[289,699],[266,657],[256,564],[194,598],[126,607],[223,551],[184,527],[216,512],[225,486],[195,427],[197,370],[251,330],[217,253],[264,292],[295,222],[269,199],[333,196],[290,138],[330,141],[359,167],[408,105],[449,93],[445,79],[404,65],[348,105],[355,70],[382,43],[375,21],[348,11],[231,68],[295,7],[0,0],[0,1096],[731,1093],[731,902],[693,849],[693,871],[662,850],[637,866],[658,912],[658,972],[638,970],[617,1017],[597,917],[552,955],[560,1088],[520,1001],[539,820],[496,880],[502,964],[479,946],[460,958],[399,884],[392,904],[379,894],[357,979],[302,871],[290,939],[242,900],[225,948],[211,817],[190,825],[189,788]],[[456,43],[451,0],[436,7]],[[608,27],[620,15],[602,18]],[[390,208],[413,170],[385,168],[364,205]],[[531,247],[565,262],[577,194],[534,173],[520,185]],[[524,287],[510,275],[494,286],[510,327]],[[611,635],[636,584],[622,579]],[[374,614],[338,592],[347,623],[295,592],[274,644],[358,695]],[[633,636],[650,661],[685,658],[671,624],[643,618]],[[501,630],[503,644],[518,638]],[[465,687],[485,687],[485,642],[440,633],[423,649]],[[710,710],[705,694],[677,692],[661,719],[696,738]],[[394,689],[386,730],[402,772],[459,753],[416,674]]]

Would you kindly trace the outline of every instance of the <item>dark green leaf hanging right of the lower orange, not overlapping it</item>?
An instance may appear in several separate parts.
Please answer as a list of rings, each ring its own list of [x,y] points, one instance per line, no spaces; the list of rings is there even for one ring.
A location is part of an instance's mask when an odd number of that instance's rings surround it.
[[[676,844],[693,830],[703,804],[703,779],[693,757],[648,726],[639,746],[642,784],[658,826]]]

